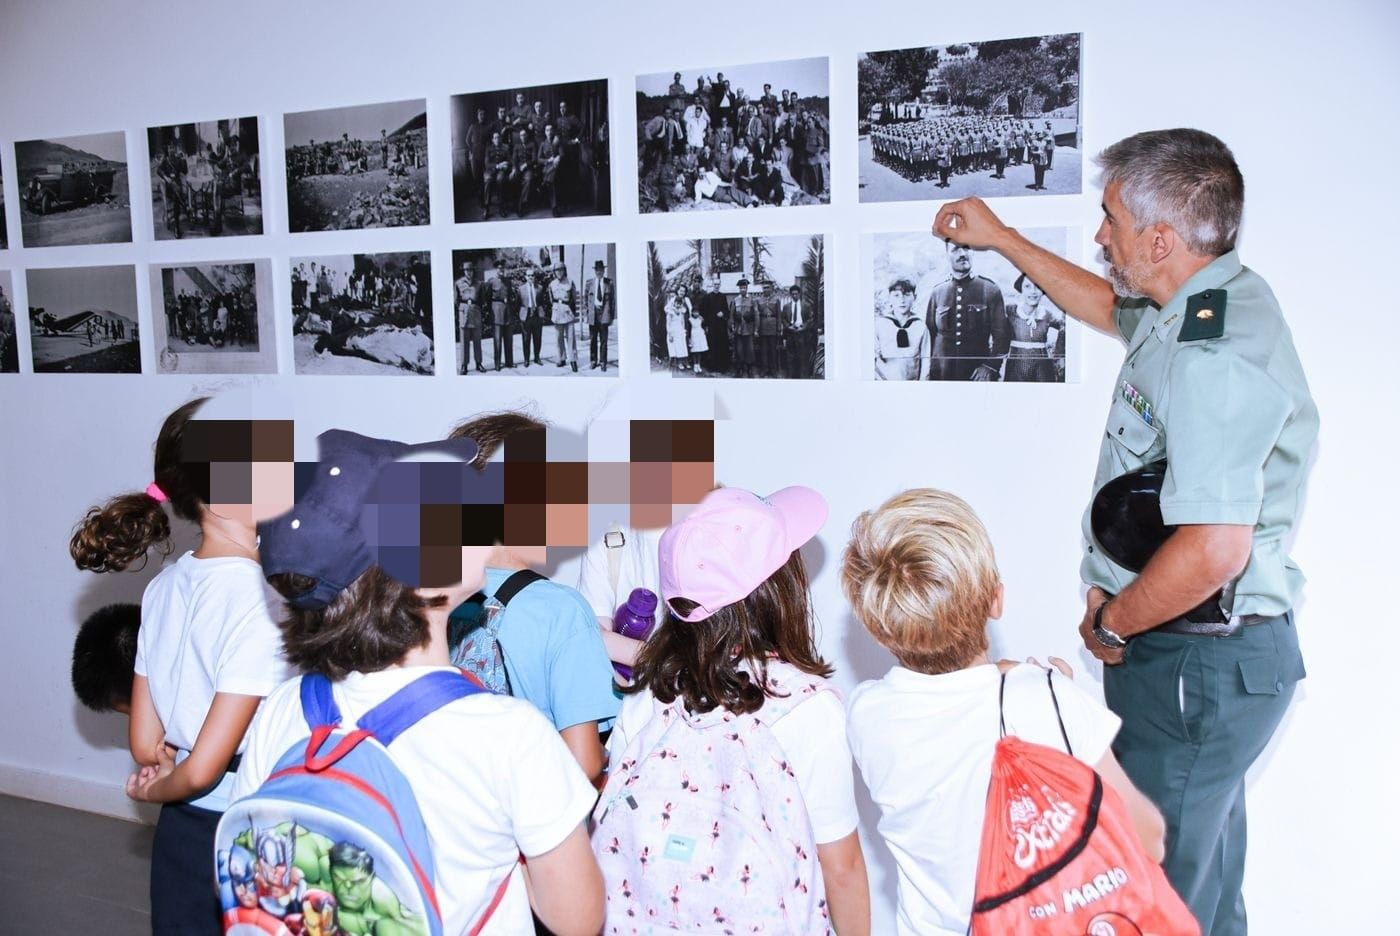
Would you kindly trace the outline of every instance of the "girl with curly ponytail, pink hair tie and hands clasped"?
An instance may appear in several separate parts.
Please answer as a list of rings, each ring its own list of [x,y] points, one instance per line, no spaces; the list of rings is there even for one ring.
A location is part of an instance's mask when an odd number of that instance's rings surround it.
[[[78,568],[94,572],[125,569],[153,547],[168,554],[167,502],[200,530],[199,548],[146,586],[129,700],[140,771],[126,792],[162,804],[151,851],[157,935],[221,932],[209,855],[228,803],[228,771],[259,702],[287,676],[253,523],[259,509],[290,506],[291,424],[279,445],[273,437],[281,434],[260,427],[283,424],[244,421],[235,431],[196,421],[203,403],[167,417],[146,491],[88,511],[69,546]]]

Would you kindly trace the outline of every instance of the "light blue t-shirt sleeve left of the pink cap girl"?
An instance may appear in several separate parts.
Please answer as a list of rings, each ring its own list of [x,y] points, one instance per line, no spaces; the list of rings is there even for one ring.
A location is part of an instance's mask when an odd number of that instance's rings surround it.
[[[549,649],[549,705],[554,728],[564,730],[584,722],[612,722],[617,697],[612,687],[612,662],[598,632],[598,618],[577,595],[560,602],[556,624],[564,637]],[[608,725],[601,725],[606,730]]]

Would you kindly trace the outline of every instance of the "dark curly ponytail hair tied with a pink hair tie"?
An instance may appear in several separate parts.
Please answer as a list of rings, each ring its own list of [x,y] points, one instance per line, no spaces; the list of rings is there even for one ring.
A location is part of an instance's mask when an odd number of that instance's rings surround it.
[[[183,459],[185,427],[209,397],[190,400],[161,425],[155,437],[155,484],[169,498],[175,516],[199,523],[209,497],[209,466]],[[80,569],[119,572],[157,547],[171,551],[171,522],[161,502],[146,492],[120,494],[88,509],[73,537],[69,554]]]

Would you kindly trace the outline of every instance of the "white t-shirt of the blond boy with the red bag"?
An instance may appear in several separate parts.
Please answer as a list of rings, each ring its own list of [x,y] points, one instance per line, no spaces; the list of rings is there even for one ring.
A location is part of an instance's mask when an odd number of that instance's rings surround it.
[[[851,753],[879,832],[899,866],[902,936],[963,936],[972,915],[991,758],[1001,736],[994,665],[928,676],[902,666],[851,694]],[[1068,679],[1054,677],[1074,756],[1098,764],[1119,716]],[[1007,733],[1064,750],[1046,670],[1007,674]]]

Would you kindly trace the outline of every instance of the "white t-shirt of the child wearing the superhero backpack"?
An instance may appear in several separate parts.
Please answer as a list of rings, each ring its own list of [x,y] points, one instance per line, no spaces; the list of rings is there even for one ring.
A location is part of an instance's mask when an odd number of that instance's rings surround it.
[[[414,679],[449,666],[405,666],[351,673],[335,684],[343,723]],[[287,749],[309,736],[301,680],[263,702],[234,781],[232,797],[252,793]],[[543,855],[578,828],[598,797],[554,726],[533,705],[482,693],[456,700],[407,729],[389,747],[413,786],[437,863],[442,932],[463,933],[512,876],[483,936],[533,936],[518,858]]]

